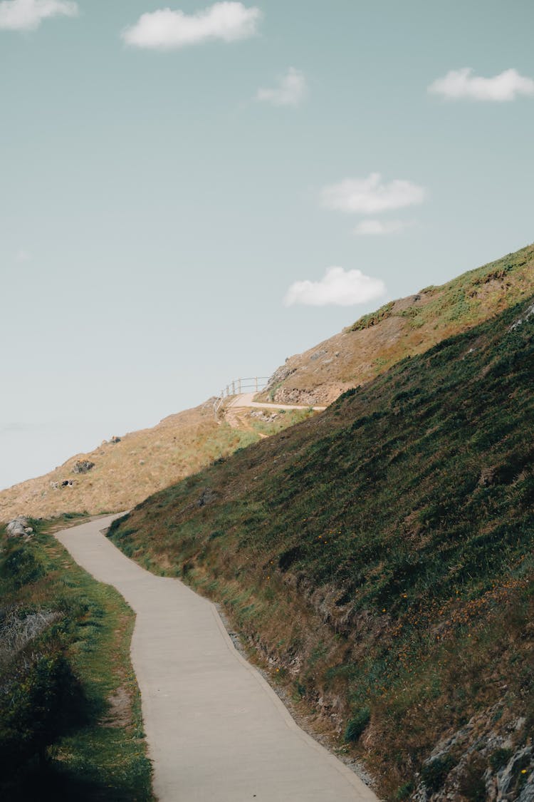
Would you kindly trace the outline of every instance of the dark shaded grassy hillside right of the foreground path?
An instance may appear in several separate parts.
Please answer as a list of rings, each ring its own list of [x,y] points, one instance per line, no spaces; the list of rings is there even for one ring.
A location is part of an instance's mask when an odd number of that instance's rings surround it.
[[[528,304],[151,496],[112,533],[223,602],[387,800],[531,798]]]

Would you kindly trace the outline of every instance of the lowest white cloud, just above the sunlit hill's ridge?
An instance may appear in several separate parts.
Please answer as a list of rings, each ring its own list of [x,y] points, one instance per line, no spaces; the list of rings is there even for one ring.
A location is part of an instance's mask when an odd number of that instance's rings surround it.
[[[329,267],[319,282],[294,282],[283,299],[285,306],[353,306],[372,301],[386,293],[380,278],[365,276],[361,270]]]

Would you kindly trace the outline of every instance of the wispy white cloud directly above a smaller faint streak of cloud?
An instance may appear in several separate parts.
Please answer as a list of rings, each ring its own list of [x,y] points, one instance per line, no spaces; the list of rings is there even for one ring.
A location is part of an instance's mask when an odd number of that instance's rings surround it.
[[[323,206],[340,212],[377,214],[390,209],[420,204],[426,190],[412,181],[393,180],[383,184],[379,172],[371,172],[368,178],[345,178],[339,184],[323,188]]]

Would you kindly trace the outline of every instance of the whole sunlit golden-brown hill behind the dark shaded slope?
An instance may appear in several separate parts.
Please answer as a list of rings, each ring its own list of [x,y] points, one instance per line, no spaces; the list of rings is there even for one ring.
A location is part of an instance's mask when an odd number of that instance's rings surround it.
[[[534,292],[534,245],[454,279],[441,287],[390,302],[364,315],[341,334],[275,371],[259,399],[320,405],[375,376],[407,356],[488,319]],[[259,413],[256,412],[255,415]],[[269,421],[250,411],[211,401],[163,419],[157,426],[111,439],[78,454],[54,471],[0,492],[0,520],[17,515],[58,516],[63,512],[116,512],[199,471],[307,412],[287,411]],[[90,463],[77,473],[76,464]],[[83,470],[83,465],[82,465]]]

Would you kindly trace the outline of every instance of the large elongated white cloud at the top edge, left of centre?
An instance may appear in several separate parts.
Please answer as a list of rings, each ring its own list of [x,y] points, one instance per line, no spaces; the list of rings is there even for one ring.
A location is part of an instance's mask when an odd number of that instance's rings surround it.
[[[174,50],[214,39],[235,42],[256,33],[262,12],[246,8],[241,2],[216,2],[195,14],[184,14],[170,8],[142,14],[134,26],[122,33],[124,41],[134,47]]]

